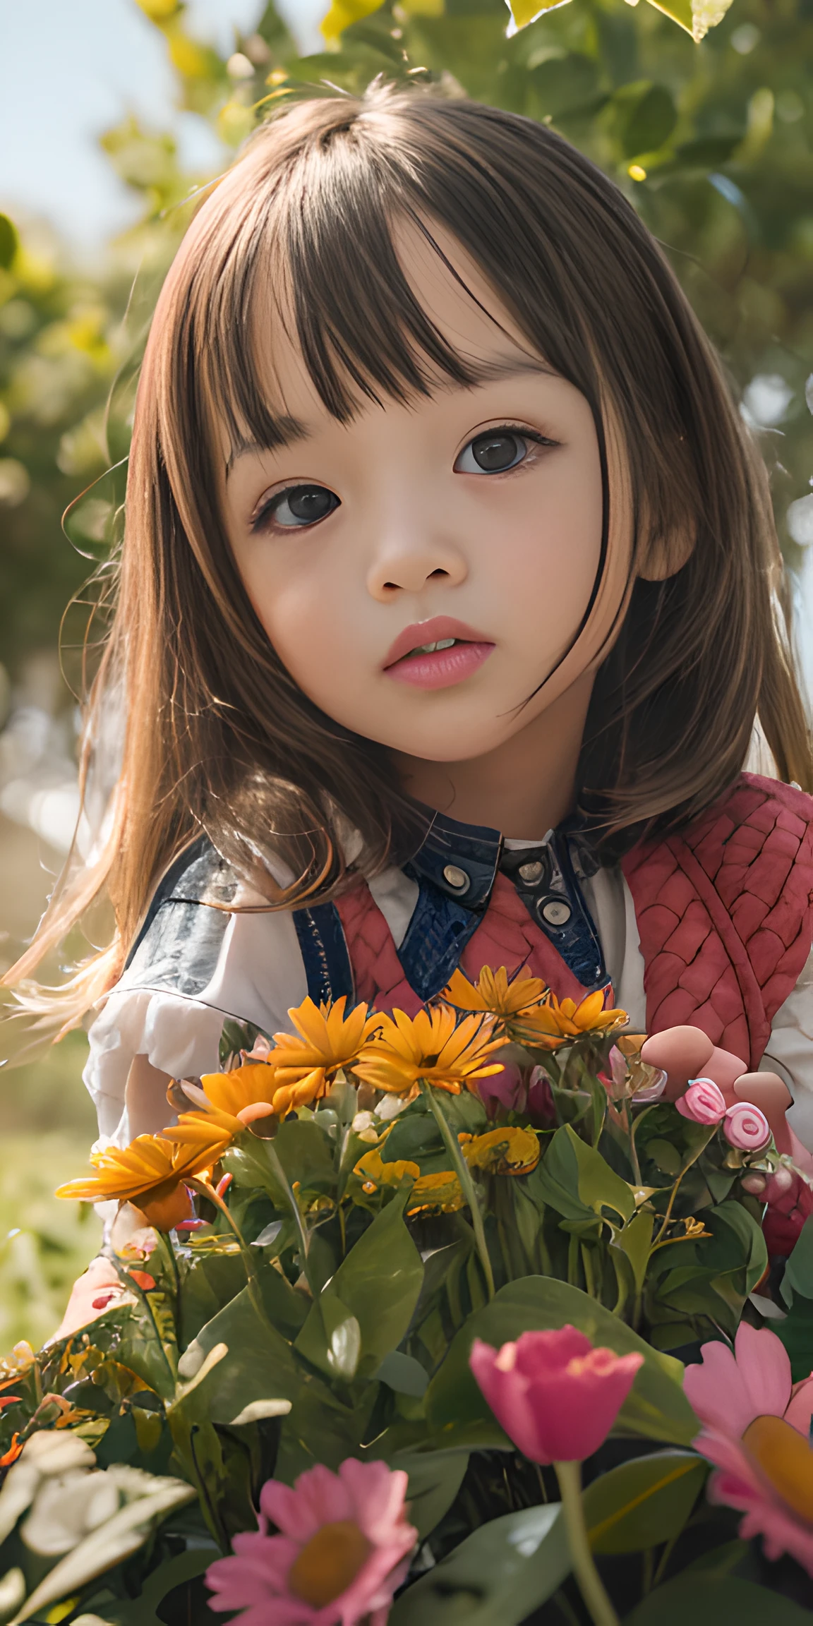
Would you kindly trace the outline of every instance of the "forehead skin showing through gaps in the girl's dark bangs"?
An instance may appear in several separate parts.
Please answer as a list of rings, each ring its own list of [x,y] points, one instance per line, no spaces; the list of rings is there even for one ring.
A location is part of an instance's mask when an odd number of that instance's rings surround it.
[[[392,226],[392,242],[415,301],[470,374],[470,384],[488,380],[489,376],[499,377],[509,367],[522,371],[527,366],[537,371],[545,366],[480,267],[447,228],[397,221]],[[363,301],[358,320],[364,322]],[[392,320],[398,325],[395,307]],[[280,278],[273,280],[273,291],[270,286],[255,289],[254,343],[257,374],[275,418],[307,426],[333,421],[311,377],[298,340],[294,304]],[[418,356],[418,363],[426,395],[454,387],[455,380],[429,358]],[[371,405],[385,403],[384,392],[376,390],[371,400],[351,379],[348,384],[356,415]],[[408,393],[410,405],[416,406],[420,392]]]

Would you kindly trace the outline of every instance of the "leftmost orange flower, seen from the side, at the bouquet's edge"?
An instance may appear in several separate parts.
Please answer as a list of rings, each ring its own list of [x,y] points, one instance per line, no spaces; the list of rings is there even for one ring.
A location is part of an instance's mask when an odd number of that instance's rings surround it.
[[[124,1150],[93,1151],[96,1172],[60,1185],[57,1197],[91,1203],[115,1197],[120,1203],[135,1203],[156,1231],[172,1231],[192,1213],[184,1180],[210,1172],[229,1140],[231,1135],[200,1120],[177,1145],[161,1135],[138,1135]]]

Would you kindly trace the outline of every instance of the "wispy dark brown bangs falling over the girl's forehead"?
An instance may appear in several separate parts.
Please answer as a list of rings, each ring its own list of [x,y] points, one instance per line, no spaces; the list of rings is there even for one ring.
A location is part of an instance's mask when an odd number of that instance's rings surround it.
[[[348,159],[358,158],[356,163]],[[200,356],[205,392],[226,421],[233,450],[273,450],[299,424],[268,400],[268,325],[291,343],[320,402],[350,423],[363,402],[406,402],[442,380],[472,387],[488,367],[455,350],[423,309],[405,276],[393,226],[411,224],[468,293],[397,185],[372,171],[367,154],[337,153],[312,166],[307,211],[301,177],[276,192],[233,244],[208,307]],[[247,239],[247,241],[246,241]],[[268,324],[270,319],[270,324]],[[265,324],[265,332],[259,332]],[[502,332],[494,320],[496,332]]]

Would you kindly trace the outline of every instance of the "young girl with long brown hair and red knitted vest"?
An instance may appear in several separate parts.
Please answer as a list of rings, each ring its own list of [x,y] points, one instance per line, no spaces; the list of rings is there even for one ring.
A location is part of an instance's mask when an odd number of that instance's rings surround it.
[[[598,169],[423,91],[262,128],[146,348],[86,735],[85,774],[124,694],[109,834],[15,972],[111,898],[60,995],[101,1002],[102,1137],[159,1130],[226,1016],[413,1011],[491,964],[702,1028],[813,1146],[782,595],[759,455]],[[784,782],[740,772],[756,719]]]

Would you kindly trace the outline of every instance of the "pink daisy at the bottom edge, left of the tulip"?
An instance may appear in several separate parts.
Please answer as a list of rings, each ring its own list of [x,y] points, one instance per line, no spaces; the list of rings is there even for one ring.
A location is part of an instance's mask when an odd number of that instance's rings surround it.
[[[242,1610],[239,1626],[384,1626],[418,1535],[405,1494],[403,1470],[354,1457],[338,1473],[309,1468],[293,1489],[268,1480],[260,1530],[207,1571],[210,1608]]]

